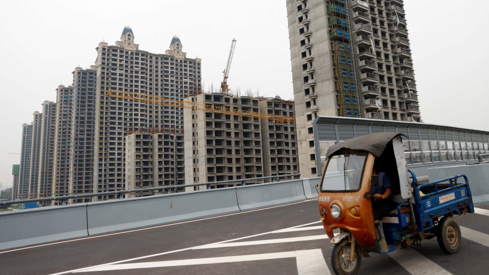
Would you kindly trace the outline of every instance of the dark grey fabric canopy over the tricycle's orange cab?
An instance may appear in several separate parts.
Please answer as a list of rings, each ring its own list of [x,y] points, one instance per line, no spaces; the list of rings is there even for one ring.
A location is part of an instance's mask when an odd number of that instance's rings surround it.
[[[326,158],[329,158],[335,152],[342,149],[364,150],[380,158],[380,155],[382,155],[382,152],[384,152],[387,144],[389,144],[392,139],[398,136],[404,135],[396,132],[383,132],[365,135],[358,138],[351,138],[338,144],[334,144],[333,146],[328,148],[328,151],[326,152]]]

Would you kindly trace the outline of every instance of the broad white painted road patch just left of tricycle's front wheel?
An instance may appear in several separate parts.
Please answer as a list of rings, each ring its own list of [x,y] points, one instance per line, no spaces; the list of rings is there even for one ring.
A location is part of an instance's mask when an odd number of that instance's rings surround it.
[[[296,251],[298,275],[331,275],[320,249]]]

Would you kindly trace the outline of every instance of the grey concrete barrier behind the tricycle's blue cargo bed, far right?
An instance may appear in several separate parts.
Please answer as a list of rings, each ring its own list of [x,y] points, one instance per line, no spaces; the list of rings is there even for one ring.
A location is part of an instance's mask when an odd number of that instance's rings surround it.
[[[457,165],[428,169],[430,182],[460,174],[467,176],[474,203],[489,202],[489,164]],[[462,178],[459,183],[463,181],[464,179]]]

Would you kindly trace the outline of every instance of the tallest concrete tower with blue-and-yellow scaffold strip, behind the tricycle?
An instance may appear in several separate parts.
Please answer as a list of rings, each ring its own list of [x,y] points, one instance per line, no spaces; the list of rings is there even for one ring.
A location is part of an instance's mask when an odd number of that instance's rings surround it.
[[[287,0],[287,14],[301,177],[318,173],[317,115],[421,121],[402,0]]]

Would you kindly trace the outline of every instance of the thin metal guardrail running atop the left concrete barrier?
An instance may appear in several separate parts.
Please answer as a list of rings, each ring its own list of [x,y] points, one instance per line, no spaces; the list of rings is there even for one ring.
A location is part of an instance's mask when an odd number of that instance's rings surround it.
[[[176,189],[176,188],[180,188],[180,187],[194,187],[194,186],[202,186],[202,185],[206,185],[207,189],[210,189],[211,185],[213,185],[213,184],[239,183],[239,182],[244,183],[244,182],[259,181],[259,180],[266,180],[266,179],[270,179],[272,182],[274,182],[275,179],[286,178],[286,177],[297,177],[298,178],[298,177],[300,177],[300,175],[301,175],[300,173],[296,173],[296,174],[267,176],[267,177],[260,177],[260,178],[251,178],[251,179],[230,180],[230,181],[222,181],[222,182],[169,185],[169,186],[158,186],[158,187],[151,187],[151,188],[140,188],[140,189],[130,189],[130,190],[118,190],[118,191],[111,191],[111,192],[89,193],[89,194],[81,194],[81,195],[68,195],[68,196],[38,198],[38,199],[23,199],[23,200],[17,200],[17,201],[0,202],[0,206],[1,205],[16,205],[16,204],[24,204],[24,203],[35,203],[35,202],[46,202],[46,201],[61,201],[62,205],[66,205],[66,203],[69,199],[90,198],[90,197],[103,196],[103,195],[117,195],[117,199],[123,199],[124,198],[123,195],[127,194],[127,193],[142,193],[142,192],[148,192],[148,191],[154,191],[154,190],[166,190],[166,189],[171,190],[171,189]]]

